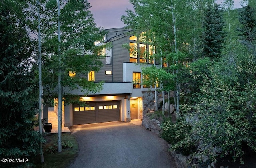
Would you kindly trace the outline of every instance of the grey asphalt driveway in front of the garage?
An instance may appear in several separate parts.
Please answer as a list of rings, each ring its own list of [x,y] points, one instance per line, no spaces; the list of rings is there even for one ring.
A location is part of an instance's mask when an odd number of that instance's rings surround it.
[[[143,126],[110,122],[70,130],[80,149],[70,168],[176,168],[168,144]]]

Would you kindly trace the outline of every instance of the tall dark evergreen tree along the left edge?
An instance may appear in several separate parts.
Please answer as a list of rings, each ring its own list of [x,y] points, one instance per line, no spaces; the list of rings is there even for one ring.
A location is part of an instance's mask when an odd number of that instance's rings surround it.
[[[24,2],[0,2],[0,158],[24,158],[29,164],[43,138],[33,130],[36,87],[30,71],[30,38],[24,29]]]

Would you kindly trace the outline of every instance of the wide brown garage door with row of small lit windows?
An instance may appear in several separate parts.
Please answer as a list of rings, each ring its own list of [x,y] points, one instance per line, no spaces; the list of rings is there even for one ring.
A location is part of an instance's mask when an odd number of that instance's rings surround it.
[[[120,121],[120,101],[87,103],[89,107],[73,106],[73,125]]]

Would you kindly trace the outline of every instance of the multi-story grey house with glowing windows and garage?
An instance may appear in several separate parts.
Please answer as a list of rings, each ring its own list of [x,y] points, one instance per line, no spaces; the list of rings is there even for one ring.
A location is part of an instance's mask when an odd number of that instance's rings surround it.
[[[64,105],[64,126],[142,119],[143,111],[154,99],[154,88],[141,85],[140,64],[152,66],[153,60],[148,56],[153,54],[154,46],[140,43],[137,37],[131,34],[132,30],[113,28],[106,31],[104,43],[112,43],[112,48],[103,51],[106,58],[100,71],[91,71],[88,74],[90,81],[105,81],[103,89],[98,93],[81,97],[81,100],[86,101],[90,107]],[[122,47],[126,43],[130,45],[130,52]],[[78,90],[71,93],[81,96],[85,94]]]

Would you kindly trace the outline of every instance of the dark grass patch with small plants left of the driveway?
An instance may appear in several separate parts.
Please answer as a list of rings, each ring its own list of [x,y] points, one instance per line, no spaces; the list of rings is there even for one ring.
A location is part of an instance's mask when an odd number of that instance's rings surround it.
[[[53,152],[52,150],[55,150],[53,148],[55,148],[55,146],[58,144],[58,134],[48,134],[45,136],[47,142],[43,144],[44,163],[40,163],[40,156],[37,156],[36,158],[38,158],[38,160],[35,160],[34,163],[36,168],[66,168],[70,166],[78,155],[78,143],[76,142],[76,138],[72,136],[71,133],[62,133],[61,138],[62,143],[72,144],[68,145],[68,147],[73,147],[62,149],[62,152]]]

